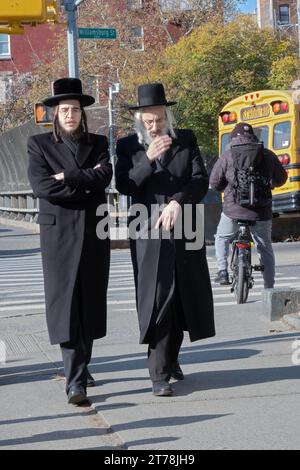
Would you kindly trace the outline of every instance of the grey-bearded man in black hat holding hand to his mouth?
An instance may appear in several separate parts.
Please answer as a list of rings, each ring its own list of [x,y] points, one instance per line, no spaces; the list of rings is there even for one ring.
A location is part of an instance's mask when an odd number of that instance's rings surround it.
[[[208,177],[194,133],[174,128],[173,104],[161,83],[141,85],[130,108],[136,133],[117,143],[117,188],[132,196],[132,213],[144,214],[139,224],[131,221],[129,236],[140,342],[149,345],[156,396],[172,395],[170,379],[184,378],[178,362],[183,331],[191,341],[215,334],[205,246],[187,243]],[[180,220],[184,230],[177,230]]]

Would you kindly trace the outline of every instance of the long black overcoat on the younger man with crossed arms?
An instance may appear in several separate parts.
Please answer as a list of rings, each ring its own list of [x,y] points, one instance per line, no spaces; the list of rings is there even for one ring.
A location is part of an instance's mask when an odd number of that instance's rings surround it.
[[[39,215],[46,319],[52,344],[71,338],[72,298],[80,263],[81,313],[86,339],[106,334],[110,242],[96,235],[97,207],[112,176],[105,136],[90,134],[75,158],[53,134],[29,137],[28,177],[40,198]],[[94,169],[100,163],[101,167]],[[64,172],[64,181],[52,175]]]

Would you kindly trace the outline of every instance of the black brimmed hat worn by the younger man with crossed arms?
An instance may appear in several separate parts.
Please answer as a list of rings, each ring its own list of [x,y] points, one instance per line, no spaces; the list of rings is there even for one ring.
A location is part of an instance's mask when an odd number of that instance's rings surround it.
[[[53,96],[43,101],[46,106],[56,106],[63,100],[78,100],[81,106],[90,106],[95,103],[92,96],[82,93],[82,84],[79,78],[59,78],[53,82]]]

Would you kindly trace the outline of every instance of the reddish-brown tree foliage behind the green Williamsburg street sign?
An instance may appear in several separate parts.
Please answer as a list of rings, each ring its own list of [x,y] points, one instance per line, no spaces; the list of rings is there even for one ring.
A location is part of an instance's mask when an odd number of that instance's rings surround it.
[[[190,8],[180,8],[183,3]],[[168,44],[174,44],[180,35],[190,34],[216,15],[219,19],[224,17],[224,12],[227,16],[230,15],[235,4],[236,0],[147,0],[143,1],[143,8],[127,9],[126,0],[85,0],[79,7],[79,27],[117,30],[117,40],[78,41],[80,78],[83,80],[84,90],[99,101],[98,114],[95,116],[95,121],[98,119],[99,123],[93,130],[105,131],[107,109],[103,106],[107,106],[109,85],[120,82],[123,76],[133,81],[137,71],[145,66],[149,69],[153,66],[157,56],[163,53]],[[30,119],[32,103],[49,95],[53,80],[68,75],[66,17],[63,13],[60,14],[59,23],[53,30],[47,60],[38,61],[33,71],[31,87],[27,88],[25,95],[21,93],[21,89],[20,93],[14,89],[19,106],[22,107],[22,100],[24,102],[24,112],[14,112],[17,109],[15,107],[11,112],[11,103],[7,103],[4,108],[8,112],[3,110],[6,116],[2,120],[3,130]],[[143,30],[144,41],[133,33],[137,26]],[[139,48],[139,43],[142,42],[144,45]],[[118,103],[121,105],[126,101],[126,94],[123,101],[122,98],[121,93],[118,96]],[[122,106],[118,111],[119,121],[122,121],[122,127],[125,122],[126,128],[130,118],[123,114]]]

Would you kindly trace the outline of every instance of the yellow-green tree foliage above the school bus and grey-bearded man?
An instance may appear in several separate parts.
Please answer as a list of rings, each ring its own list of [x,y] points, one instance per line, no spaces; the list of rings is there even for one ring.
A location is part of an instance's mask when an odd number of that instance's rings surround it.
[[[300,71],[295,47],[290,39],[259,29],[249,16],[212,21],[168,47],[126,86],[132,93],[140,83],[162,81],[169,98],[178,101],[179,124],[193,129],[201,147],[215,153],[222,107],[243,93],[289,87]]]

